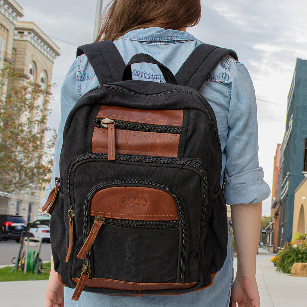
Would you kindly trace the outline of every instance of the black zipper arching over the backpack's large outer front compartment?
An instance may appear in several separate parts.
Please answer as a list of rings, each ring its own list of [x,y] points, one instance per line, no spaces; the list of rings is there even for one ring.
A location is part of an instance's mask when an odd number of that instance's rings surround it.
[[[74,208],[72,206],[72,199],[70,195],[70,177],[72,173],[73,167],[84,160],[87,159],[107,159],[108,154],[107,153],[88,153],[84,156],[81,156],[77,158],[75,161],[72,162],[72,164],[69,167],[68,170],[68,180],[67,180],[67,191],[68,191],[68,201],[70,209],[73,211]],[[137,156],[137,155],[116,155],[116,159],[120,161],[131,161],[131,162],[144,162],[144,163],[166,163],[166,164],[181,164],[181,165],[188,165],[192,166],[202,175],[204,176],[204,201],[203,201],[203,210],[202,210],[202,220],[201,220],[201,228],[205,227],[207,225],[207,210],[208,210],[208,186],[207,186],[207,174],[204,170],[204,168],[200,165],[199,162],[189,160],[189,159],[183,159],[183,158],[166,158],[166,157],[151,157],[151,156]]]

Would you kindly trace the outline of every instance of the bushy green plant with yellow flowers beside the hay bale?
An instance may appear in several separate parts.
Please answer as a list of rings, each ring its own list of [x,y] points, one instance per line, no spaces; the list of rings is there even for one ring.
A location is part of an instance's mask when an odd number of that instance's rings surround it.
[[[300,246],[286,244],[271,261],[276,264],[277,271],[291,274],[291,268],[294,263],[307,262],[307,247],[305,244]]]

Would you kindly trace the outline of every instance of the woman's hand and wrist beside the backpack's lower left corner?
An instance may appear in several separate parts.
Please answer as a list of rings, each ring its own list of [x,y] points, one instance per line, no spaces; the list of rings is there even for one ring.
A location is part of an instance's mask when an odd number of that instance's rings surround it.
[[[64,307],[64,287],[60,284],[53,267],[51,256],[51,270],[46,291],[46,307]]]

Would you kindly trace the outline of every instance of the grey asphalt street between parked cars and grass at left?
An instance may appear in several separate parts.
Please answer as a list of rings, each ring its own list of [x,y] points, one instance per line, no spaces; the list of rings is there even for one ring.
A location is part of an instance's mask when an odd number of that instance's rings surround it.
[[[13,257],[17,256],[19,244],[15,240],[7,240],[0,242],[0,266],[10,265]],[[29,249],[35,249],[29,247]],[[51,258],[51,244],[42,243],[40,258],[42,261],[50,261]]]

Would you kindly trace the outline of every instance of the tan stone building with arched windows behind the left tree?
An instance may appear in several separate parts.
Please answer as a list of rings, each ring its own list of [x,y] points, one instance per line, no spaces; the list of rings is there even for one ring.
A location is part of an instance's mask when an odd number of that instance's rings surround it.
[[[59,47],[32,21],[21,21],[22,7],[14,0],[0,0],[0,68],[10,64],[27,80],[47,88],[51,84],[54,60],[60,55]],[[44,103],[51,93],[45,92],[37,103]],[[0,192],[0,213],[22,215],[33,221],[41,207],[40,187],[32,187],[17,195]]]

